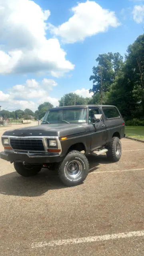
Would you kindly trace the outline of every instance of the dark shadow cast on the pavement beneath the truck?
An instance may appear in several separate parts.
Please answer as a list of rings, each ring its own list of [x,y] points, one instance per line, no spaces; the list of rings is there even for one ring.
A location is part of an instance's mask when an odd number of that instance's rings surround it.
[[[98,170],[100,163],[108,164],[106,156],[87,155],[90,172]],[[42,169],[36,176],[22,177],[17,172],[0,176],[0,194],[12,196],[42,196],[48,190],[67,188],[57,172]]]

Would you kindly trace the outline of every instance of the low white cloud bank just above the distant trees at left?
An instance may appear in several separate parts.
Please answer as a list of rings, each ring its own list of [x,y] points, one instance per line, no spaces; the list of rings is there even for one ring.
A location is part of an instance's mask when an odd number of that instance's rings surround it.
[[[58,106],[58,99],[49,96],[48,91],[52,90],[57,83],[52,79],[44,78],[42,82],[35,79],[26,80],[25,84],[17,84],[9,89],[8,94],[0,91],[2,109],[16,110],[30,108],[36,110],[38,105],[49,101]]]

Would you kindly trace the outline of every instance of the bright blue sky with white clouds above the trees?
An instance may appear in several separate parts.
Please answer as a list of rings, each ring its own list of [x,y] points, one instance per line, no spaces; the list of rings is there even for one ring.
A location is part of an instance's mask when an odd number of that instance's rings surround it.
[[[143,22],[144,0],[0,0],[1,109],[91,97],[98,54],[124,56]]]

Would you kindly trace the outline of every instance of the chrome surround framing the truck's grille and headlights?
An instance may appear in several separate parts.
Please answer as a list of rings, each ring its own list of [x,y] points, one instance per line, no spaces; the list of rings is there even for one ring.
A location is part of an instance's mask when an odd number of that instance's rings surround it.
[[[47,139],[55,139],[55,140],[57,140],[57,143],[58,143],[58,149],[60,149],[60,152],[57,153],[57,154],[58,155],[62,154],[62,146],[61,146],[61,143],[60,143],[60,140],[59,140],[58,136],[23,136],[22,137],[22,136],[6,136],[6,135],[3,135],[2,138],[8,138],[9,146],[11,146],[10,145],[10,138],[14,138],[14,139],[42,139],[43,144],[44,144],[45,152],[48,152],[48,144],[47,144],[46,140]],[[3,145],[3,146],[6,146],[6,145]],[[10,152],[10,151],[8,151],[8,152]],[[17,151],[14,150],[14,152],[17,152]],[[34,151],[33,150],[30,150],[30,151],[22,150],[22,152],[34,152]],[[44,152],[44,151],[36,151],[36,152]]]

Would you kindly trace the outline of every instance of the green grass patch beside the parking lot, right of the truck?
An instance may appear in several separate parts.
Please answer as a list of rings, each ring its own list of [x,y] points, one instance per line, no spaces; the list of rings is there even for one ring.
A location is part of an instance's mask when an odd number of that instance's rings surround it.
[[[144,126],[126,126],[126,136],[144,140]]]

